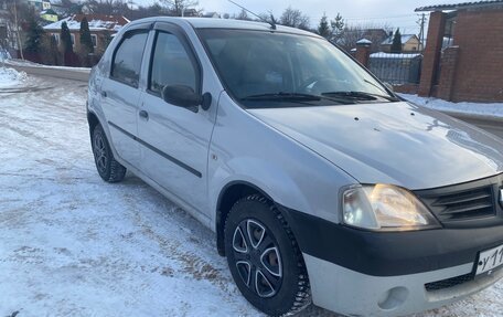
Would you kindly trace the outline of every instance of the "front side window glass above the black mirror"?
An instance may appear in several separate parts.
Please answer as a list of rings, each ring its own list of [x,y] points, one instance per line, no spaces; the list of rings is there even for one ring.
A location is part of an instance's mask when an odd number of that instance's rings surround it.
[[[196,92],[196,70],[180,40],[159,32],[150,70],[149,89],[160,94],[167,85],[184,85]]]

